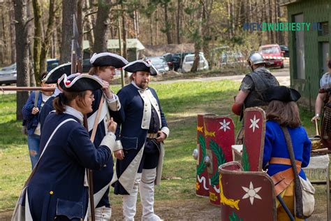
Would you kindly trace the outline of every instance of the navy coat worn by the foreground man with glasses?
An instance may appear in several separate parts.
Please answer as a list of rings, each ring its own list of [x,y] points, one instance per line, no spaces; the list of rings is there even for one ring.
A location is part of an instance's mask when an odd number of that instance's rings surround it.
[[[69,118],[75,121],[66,122],[55,132],[27,184],[26,196],[33,220],[54,220],[56,216],[84,218],[88,204],[85,168],[101,169],[111,157],[107,145],[95,148],[80,120],[65,113],[47,116],[47,127],[41,133],[42,150],[54,129]]]

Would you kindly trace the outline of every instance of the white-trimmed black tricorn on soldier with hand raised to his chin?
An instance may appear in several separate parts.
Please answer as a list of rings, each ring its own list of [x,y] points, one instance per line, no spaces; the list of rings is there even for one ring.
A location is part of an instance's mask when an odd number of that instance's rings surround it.
[[[115,69],[120,69],[128,64],[124,57],[110,52],[94,53],[89,62],[92,66],[113,66]]]

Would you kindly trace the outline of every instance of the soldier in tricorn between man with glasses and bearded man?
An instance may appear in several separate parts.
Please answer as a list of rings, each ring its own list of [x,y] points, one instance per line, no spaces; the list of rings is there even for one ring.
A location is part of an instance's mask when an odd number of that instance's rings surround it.
[[[98,126],[96,127],[96,134],[94,136],[94,145],[100,145],[103,137],[107,133],[107,123],[110,120],[110,113],[116,112],[121,108],[119,98],[116,94],[110,90],[110,82],[115,76],[115,69],[120,69],[128,61],[119,55],[102,52],[94,54],[91,59],[91,69],[89,75],[94,76],[103,83],[103,87],[99,90],[94,90],[94,102],[92,104],[93,111],[87,114],[87,123],[89,125],[89,135],[92,134],[94,122],[96,121],[96,115],[103,98],[103,104],[101,106],[101,115],[98,118]],[[112,180],[114,161],[112,157],[103,166],[101,170],[93,171],[93,187],[94,187],[94,206],[96,221],[98,220],[110,220],[112,215],[112,209],[109,201],[109,185]]]

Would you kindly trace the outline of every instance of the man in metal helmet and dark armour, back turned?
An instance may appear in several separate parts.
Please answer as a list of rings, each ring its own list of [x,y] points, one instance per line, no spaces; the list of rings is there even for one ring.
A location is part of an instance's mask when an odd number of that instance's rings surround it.
[[[232,106],[233,113],[240,115],[241,120],[246,108],[258,106],[266,109],[269,103],[263,100],[262,92],[269,87],[279,86],[277,79],[265,68],[265,60],[260,53],[255,52],[250,55],[247,62],[252,72],[242,79],[235,103]],[[243,134],[240,130],[236,143],[241,144],[242,140]]]

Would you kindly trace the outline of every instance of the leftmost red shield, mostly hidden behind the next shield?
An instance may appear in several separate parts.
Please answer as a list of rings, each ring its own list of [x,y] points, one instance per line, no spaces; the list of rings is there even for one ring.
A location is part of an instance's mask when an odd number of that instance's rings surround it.
[[[203,162],[206,154],[206,141],[205,141],[205,124],[203,121],[204,116],[212,116],[214,113],[199,113],[196,126],[197,134],[197,149],[196,153],[193,152],[193,157],[196,161],[196,195],[199,197],[209,197],[209,183],[207,174],[207,165]],[[196,156],[194,156],[197,154]]]

